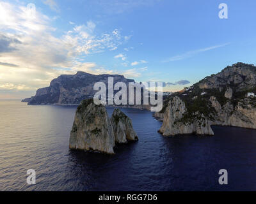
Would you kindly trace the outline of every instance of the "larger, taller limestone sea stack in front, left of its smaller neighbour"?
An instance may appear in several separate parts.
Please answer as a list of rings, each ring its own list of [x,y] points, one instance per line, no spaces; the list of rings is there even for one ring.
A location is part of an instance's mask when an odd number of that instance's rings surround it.
[[[77,107],[70,132],[69,148],[113,154],[115,137],[106,108],[84,100]]]

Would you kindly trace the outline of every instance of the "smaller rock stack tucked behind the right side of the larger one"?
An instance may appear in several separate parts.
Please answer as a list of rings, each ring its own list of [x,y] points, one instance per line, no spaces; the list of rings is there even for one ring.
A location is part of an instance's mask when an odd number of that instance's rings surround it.
[[[111,116],[111,124],[115,135],[115,142],[126,143],[128,140],[136,141],[138,136],[132,128],[132,121],[120,109],[115,109]]]

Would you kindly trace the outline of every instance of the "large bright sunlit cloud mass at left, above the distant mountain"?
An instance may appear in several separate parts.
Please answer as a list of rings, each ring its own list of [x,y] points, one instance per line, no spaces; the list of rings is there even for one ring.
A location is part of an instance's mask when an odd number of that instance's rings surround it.
[[[31,94],[49,86],[53,78],[62,74],[121,73],[94,62],[84,62],[88,54],[114,50],[122,45],[125,40],[120,30],[97,33],[97,25],[88,21],[56,37],[53,33],[56,28],[51,26],[53,18],[40,10],[36,10],[33,18],[27,14],[28,8],[22,4],[0,1],[1,90],[23,90]]]

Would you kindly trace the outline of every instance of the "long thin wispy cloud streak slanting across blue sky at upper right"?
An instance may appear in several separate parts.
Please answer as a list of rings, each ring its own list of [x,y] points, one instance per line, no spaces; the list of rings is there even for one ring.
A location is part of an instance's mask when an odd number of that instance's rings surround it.
[[[209,51],[209,50],[214,50],[216,48],[225,47],[226,45],[229,45],[229,44],[230,43],[225,43],[225,44],[222,44],[222,45],[215,45],[215,46],[212,46],[212,47],[206,47],[206,48],[201,48],[201,49],[198,49],[198,50],[192,50],[192,51],[186,52],[186,53],[181,54],[181,55],[176,55],[176,56],[170,57],[169,59],[167,59],[163,62],[179,61],[179,60],[182,60],[182,59],[186,59],[188,57],[192,57],[193,55],[200,54],[201,52],[206,52],[206,51]]]

